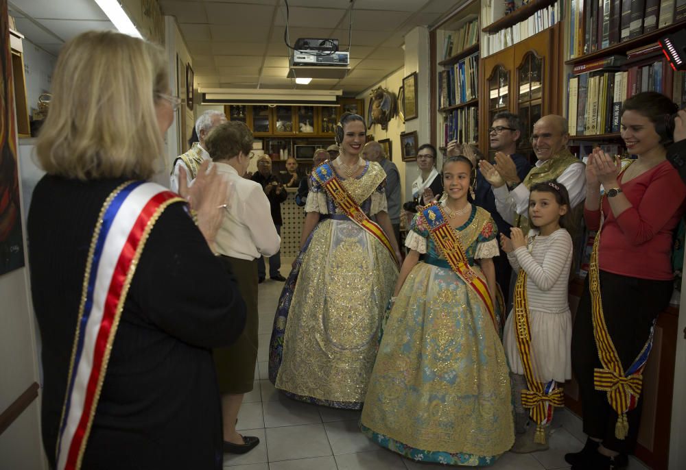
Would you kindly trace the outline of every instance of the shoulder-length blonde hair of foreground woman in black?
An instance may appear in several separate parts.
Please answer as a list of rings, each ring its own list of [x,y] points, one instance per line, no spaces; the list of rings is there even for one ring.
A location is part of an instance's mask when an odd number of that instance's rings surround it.
[[[116,32],[86,32],[62,49],[36,155],[51,175],[147,179],[163,157],[157,93],[168,92],[163,49]]]

